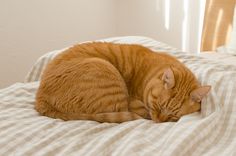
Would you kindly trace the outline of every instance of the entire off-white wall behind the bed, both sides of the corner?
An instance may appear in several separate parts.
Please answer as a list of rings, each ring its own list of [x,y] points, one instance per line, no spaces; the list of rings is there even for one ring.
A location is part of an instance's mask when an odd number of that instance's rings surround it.
[[[141,35],[195,52],[204,1],[0,0],[0,88],[23,81],[44,53],[80,41]]]

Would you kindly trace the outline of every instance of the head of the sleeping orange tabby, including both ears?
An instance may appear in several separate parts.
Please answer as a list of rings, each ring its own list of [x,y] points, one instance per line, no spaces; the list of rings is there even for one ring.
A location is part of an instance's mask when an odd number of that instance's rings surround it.
[[[183,115],[200,111],[201,101],[210,86],[200,86],[190,71],[174,74],[164,71],[161,81],[148,94],[148,109],[156,122],[177,121]]]

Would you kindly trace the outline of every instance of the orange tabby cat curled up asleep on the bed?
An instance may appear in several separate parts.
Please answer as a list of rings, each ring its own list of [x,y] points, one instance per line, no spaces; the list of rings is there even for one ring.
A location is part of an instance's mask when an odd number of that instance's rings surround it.
[[[42,74],[35,109],[62,120],[178,121],[210,91],[175,57],[135,44],[77,44]]]

